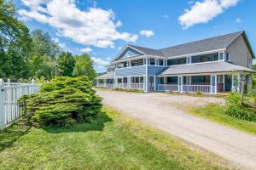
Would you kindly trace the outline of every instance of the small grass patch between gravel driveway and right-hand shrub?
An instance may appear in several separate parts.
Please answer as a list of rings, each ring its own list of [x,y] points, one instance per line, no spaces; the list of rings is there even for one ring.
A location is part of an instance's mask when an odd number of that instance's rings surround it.
[[[224,113],[224,107],[222,106],[210,104],[206,107],[193,109],[190,112],[196,116],[205,117],[212,122],[218,122],[229,127],[235,127],[236,129],[247,133],[256,134],[256,122],[243,121],[235,117],[228,116]]]

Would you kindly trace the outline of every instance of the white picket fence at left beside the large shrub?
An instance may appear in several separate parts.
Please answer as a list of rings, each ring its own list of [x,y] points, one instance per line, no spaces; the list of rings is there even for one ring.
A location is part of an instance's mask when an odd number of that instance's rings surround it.
[[[20,116],[18,99],[23,95],[38,93],[40,85],[31,83],[3,82],[0,79],[0,129],[7,127]]]

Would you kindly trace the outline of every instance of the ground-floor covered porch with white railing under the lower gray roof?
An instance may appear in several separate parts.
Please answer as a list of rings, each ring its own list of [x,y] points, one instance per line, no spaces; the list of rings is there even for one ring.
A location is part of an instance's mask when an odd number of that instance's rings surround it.
[[[201,74],[201,75],[181,75],[158,77],[158,91],[202,94],[223,94],[225,92],[240,91],[241,78],[245,77],[247,83],[249,75],[244,73],[221,73],[221,74]]]

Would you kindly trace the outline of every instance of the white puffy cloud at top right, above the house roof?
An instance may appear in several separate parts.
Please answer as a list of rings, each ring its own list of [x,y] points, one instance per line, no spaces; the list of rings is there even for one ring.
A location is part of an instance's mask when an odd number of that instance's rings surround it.
[[[224,9],[236,6],[239,0],[204,0],[196,2],[190,9],[178,17],[183,29],[200,23],[207,23],[214,17],[224,12]]]

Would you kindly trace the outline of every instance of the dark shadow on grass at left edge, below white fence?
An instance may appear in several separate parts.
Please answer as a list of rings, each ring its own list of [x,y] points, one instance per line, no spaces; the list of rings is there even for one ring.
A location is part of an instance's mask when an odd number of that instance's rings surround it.
[[[29,128],[21,118],[5,128],[0,132],[0,151],[11,146],[20,136],[26,134]]]

